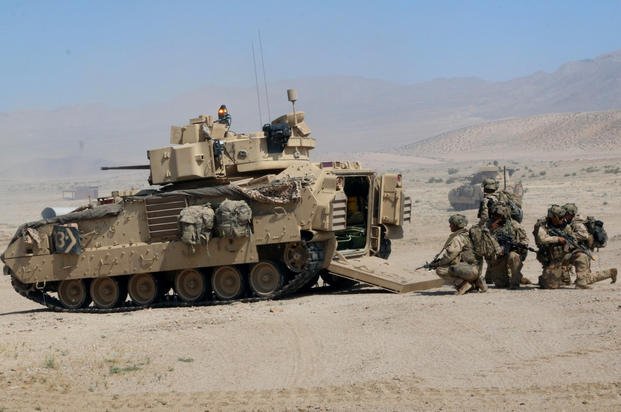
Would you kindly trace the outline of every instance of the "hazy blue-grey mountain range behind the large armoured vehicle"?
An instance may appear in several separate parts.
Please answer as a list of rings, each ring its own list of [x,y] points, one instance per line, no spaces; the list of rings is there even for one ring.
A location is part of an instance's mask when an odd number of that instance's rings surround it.
[[[122,84],[119,84],[122,87]],[[404,85],[349,76],[307,77],[269,85],[261,116],[253,88],[201,85],[168,101],[118,107],[76,104],[54,110],[0,113],[0,173],[81,158],[85,164],[141,164],[146,150],[168,144],[170,125],[214,114],[226,103],[233,130],[260,130],[291,110],[285,90],[296,88],[317,138],[316,153],[390,150],[467,126],[506,118],[621,109],[621,50],[569,62],[553,73],[501,82],[437,79]],[[269,112],[269,114],[268,114]],[[65,170],[75,169],[73,166]],[[19,174],[22,172],[20,171]]]

